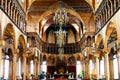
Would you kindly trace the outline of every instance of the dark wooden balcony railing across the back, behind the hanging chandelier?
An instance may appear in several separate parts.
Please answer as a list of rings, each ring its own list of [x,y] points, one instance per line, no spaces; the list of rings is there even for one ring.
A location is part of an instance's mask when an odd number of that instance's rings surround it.
[[[42,52],[48,53],[48,54],[49,53],[58,54],[58,48],[59,47],[57,44],[44,43],[42,46]],[[81,51],[79,42],[65,44],[63,48],[64,48],[64,54],[79,53]]]

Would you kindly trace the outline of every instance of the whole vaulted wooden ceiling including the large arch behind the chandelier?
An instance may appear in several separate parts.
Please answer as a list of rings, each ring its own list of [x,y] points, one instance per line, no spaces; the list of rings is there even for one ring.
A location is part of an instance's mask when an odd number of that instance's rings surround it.
[[[54,25],[53,16],[58,10],[60,0],[31,0],[28,14],[32,20],[40,23],[40,29],[49,33]],[[70,28],[75,33],[83,31],[83,27],[88,26],[89,20],[93,14],[93,6],[90,0],[61,0],[62,7],[68,12]],[[93,0],[94,1],[94,0]],[[51,27],[51,29],[49,28]],[[47,30],[47,31],[46,31]]]

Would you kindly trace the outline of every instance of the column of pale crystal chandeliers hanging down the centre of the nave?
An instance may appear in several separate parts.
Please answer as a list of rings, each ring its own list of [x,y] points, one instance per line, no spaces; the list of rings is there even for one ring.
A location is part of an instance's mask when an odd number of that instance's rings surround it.
[[[53,17],[54,24],[56,26],[59,26],[59,30],[55,31],[56,37],[57,37],[57,45],[59,46],[58,53],[59,53],[59,58],[62,60],[63,59],[63,54],[64,54],[64,44],[65,44],[65,37],[67,31],[62,29],[62,26],[67,24],[68,22],[68,16],[67,16],[67,11],[65,8],[62,8],[62,1],[59,1],[60,8],[55,12],[55,15]]]

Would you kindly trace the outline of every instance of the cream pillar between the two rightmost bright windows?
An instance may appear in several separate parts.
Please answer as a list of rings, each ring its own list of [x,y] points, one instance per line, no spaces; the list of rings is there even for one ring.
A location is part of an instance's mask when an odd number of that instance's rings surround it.
[[[110,80],[110,76],[109,76],[109,58],[108,58],[108,53],[105,53],[105,77],[106,80]]]

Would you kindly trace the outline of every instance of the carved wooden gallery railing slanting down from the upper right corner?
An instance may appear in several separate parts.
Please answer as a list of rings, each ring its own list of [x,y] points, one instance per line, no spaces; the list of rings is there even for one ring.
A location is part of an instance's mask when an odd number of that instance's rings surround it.
[[[120,8],[120,0],[103,0],[95,13],[96,33],[115,15]]]

